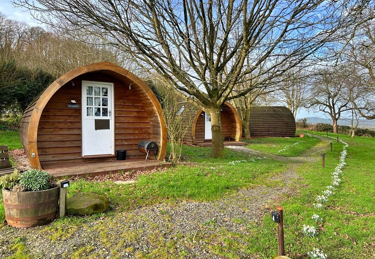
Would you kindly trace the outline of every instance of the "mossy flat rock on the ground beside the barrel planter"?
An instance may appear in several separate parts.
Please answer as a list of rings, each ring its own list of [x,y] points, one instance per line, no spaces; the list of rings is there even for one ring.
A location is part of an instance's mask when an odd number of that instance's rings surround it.
[[[108,198],[96,192],[81,192],[66,199],[66,211],[72,215],[93,215],[108,210]]]

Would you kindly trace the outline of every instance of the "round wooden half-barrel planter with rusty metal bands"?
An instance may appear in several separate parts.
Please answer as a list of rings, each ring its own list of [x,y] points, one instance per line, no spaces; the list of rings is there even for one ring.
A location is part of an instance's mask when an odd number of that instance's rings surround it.
[[[2,189],[5,218],[10,226],[30,228],[52,222],[56,217],[59,187],[36,192]]]

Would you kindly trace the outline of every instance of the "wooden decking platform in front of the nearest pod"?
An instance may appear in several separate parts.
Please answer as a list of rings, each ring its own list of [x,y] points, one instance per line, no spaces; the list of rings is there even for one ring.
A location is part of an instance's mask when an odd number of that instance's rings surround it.
[[[54,164],[44,164],[43,169],[54,176],[96,176],[108,173],[117,173],[118,171],[132,170],[151,170],[159,167],[170,167],[171,163],[166,163],[154,159],[127,159],[123,161],[105,161],[105,162],[58,162]]]

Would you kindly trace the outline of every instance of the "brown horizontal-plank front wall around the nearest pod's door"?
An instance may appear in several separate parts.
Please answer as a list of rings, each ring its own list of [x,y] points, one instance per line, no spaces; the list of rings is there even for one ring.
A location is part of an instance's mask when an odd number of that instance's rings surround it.
[[[37,146],[40,162],[82,159],[81,108],[69,109],[75,100],[81,106],[81,81],[92,80],[114,83],[115,150],[127,150],[127,158],[138,153],[138,142],[151,140],[148,114],[137,87],[102,74],[83,75],[63,85],[50,98],[40,116]],[[144,155],[142,154],[142,157]]]

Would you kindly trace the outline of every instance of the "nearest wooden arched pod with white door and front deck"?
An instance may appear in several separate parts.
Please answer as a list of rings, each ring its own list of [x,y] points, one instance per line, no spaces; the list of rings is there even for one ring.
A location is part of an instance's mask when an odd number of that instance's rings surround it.
[[[138,77],[109,62],[75,68],[54,81],[25,110],[21,142],[30,164],[56,176],[105,174],[164,166],[135,159],[141,140],[166,153],[160,103]],[[117,161],[116,150],[127,150]]]

